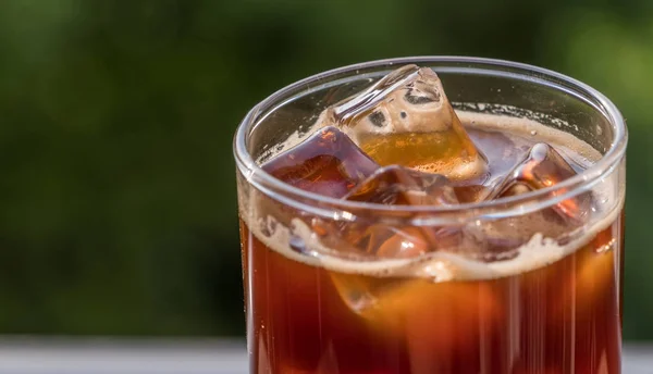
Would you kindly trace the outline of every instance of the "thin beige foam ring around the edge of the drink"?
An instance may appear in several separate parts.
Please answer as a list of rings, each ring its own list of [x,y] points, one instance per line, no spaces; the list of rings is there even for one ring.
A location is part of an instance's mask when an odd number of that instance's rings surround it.
[[[587,142],[577,137],[542,125],[535,121],[514,117],[507,115],[495,115],[466,111],[456,111],[460,122],[470,132],[500,132],[508,135],[519,144],[519,138],[528,139],[531,137],[534,141],[545,141],[560,151],[566,158],[584,167],[591,166],[600,158],[601,153]],[[317,123],[315,127],[319,127]],[[307,135],[310,135],[308,132]],[[287,149],[300,144],[307,136],[294,134],[280,147],[275,148],[275,157]],[[527,141],[523,142],[525,145]],[[429,172],[428,165],[422,165],[422,171]],[[603,207],[608,207],[609,211],[601,211],[601,207],[593,207],[599,211],[595,215],[600,219],[590,220],[582,229],[581,236],[559,244],[553,238],[547,238],[538,233],[533,227],[539,227],[542,222],[519,221],[519,226],[525,232],[537,233],[530,240],[516,249],[516,257],[508,260],[494,262],[481,262],[471,260],[461,254],[448,251],[428,252],[423,255],[409,259],[374,259],[369,261],[350,260],[337,255],[337,248],[326,248],[304,221],[293,219],[287,226],[282,225],[276,219],[260,212],[255,203],[255,199],[242,197],[242,201],[249,201],[247,207],[241,207],[241,217],[247,224],[249,230],[268,248],[285,255],[288,259],[303,262],[311,266],[322,266],[332,272],[361,274],[377,277],[422,277],[434,279],[435,282],[446,282],[454,279],[490,279],[515,275],[532,271],[555,261],[576,251],[588,244],[601,230],[608,227],[620,214],[624,204],[624,188],[617,186],[618,191],[614,191],[615,186],[609,183],[599,183],[592,189],[594,201],[604,202]],[[293,242],[301,241],[306,247],[303,252],[292,248]]]

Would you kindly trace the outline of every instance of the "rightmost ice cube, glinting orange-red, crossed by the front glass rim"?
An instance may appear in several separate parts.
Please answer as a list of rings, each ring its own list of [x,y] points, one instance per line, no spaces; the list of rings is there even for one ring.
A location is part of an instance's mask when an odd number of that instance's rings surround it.
[[[488,195],[488,199],[520,195],[551,187],[576,175],[574,167],[550,145],[539,142]],[[579,223],[589,212],[590,196],[582,194],[557,203],[554,209],[567,222]]]

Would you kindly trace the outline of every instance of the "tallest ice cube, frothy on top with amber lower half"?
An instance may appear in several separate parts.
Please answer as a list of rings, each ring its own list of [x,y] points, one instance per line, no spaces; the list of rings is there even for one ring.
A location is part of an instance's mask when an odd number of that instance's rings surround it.
[[[485,157],[431,68],[403,66],[326,109],[319,121],[338,126],[381,165],[401,164],[455,180],[486,174]]]

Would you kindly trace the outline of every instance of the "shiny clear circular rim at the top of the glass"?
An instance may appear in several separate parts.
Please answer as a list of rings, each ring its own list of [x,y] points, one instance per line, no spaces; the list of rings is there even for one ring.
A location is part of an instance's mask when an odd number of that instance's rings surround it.
[[[539,190],[530,191],[522,195],[506,197],[497,200],[484,200],[479,202],[460,203],[455,205],[386,205],[371,202],[360,201],[348,201],[338,198],[332,198],[316,192],[307,191],[289,184],[284,183],[281,179],[275,178],[271,174],[267,173],[260,167],[256,160],[247,151],[247,136],[249,130],[264,116],[260,117],[263,113],[269,115],[280,104],[284,104],[298,97],[305,96],[315,91],[317,88],[322,88],[324,85],[313,86],[316,82],[328,79],[329,77],[335,77],[346,73],[354,73],[354,76],[358,75],[359,70],[374,68],[374,67],[392,67],[394,65],[404,64],[427,64],[429,63],[449,63],[452,66],[442,67],[441,71],[446,72],[469,72],[473,71],[477,73],[485,73],[484,75],[505,76],[505,77],[519,77],[533,83],[545,84],[549,83],[551,86],[554,84],[554,79],[558,79],[566,85],[569,85],[574,89],[570,94],[575,97],[583,98],[578,91],[584,91],[587,96],[584,99],[591,98],[600,103],[601,108],[596,108],[594,103],[591,103],[593,108],[600,111],[608,120],[609,124],[614,128],[614,138],[611,142],[608,150],[603,157],[596,161],[591,167],[578,173],[577,175],[565,179],[554,186],[545,187]],[[454,66],[453,64],[464,64],[463,66]],[[506,71],[507,68],[507,71]],[[438,68],[434,68],[438,73]],[[515,72],[519,71],[519,72]],[[348,75],[344,78],[352,79],[353,75]],[[334,82],[341,82],[334,79]],[[559,86],[559,85],[556,85]],[[304,89],[303,89],[304,88]],[[559,87],[555,87],[559,89]],[[298,90],[298,91],[297,91]],[[286,97],[288,92],[295,92],[291,97]],[[587,101],[587,100],[586,100]],[[603,94],[592,88],[591,86],[571,78],[567,75],[556,73],[554,71],[529,65],[519,62],[512,62],[506,60],[486,59],[486,58],[473,58],[473,57],[408,57],[408,58],[395,58],[375,60],[364,63],[352,64],[343,67],[329,70],[319,74],[311,75],[298,82],[295,82],[286,87],[283,87],[274,94],[268,96],[266,99],[256,104],[243,119],[233,139],[233,151],[236,161],[236,166],[246,177],[247,182],[252,184],[259,190],[270,195],[279,201],[294,205],[293,202],[301,205],[303,209],[311,211],[311,208],[323,211],[324,205],[334,207],[338,209],[353,209],[364,210],[373,212],[408,212],[408,213],[458,213],[459,219],[466,215],[472,215],[475,217],[498,215],[505,216],[510,213],[525,214],[532,211],[537,211],[553,204],[559,203],[560,201],[572,198],[587,189],[594,186],[595,183],[601,180],[603,175],[609,174],[612,170],[618,165],[626,152],[626,146],[628,142],[628,130],[626,127],[625,120],[616,108],[616,105],[607,99]],[[298,202],[297,199],[301,199]],[[310,204],[307,204],[309,201]],[[322,208],[318,208],[318,205]],[[330,212],[326,215],[333,216]]]

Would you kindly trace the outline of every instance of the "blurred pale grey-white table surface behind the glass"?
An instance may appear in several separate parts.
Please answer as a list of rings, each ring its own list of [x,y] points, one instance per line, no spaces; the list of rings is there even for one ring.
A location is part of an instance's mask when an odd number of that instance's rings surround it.
[[[1,374],[246,374],[242,340],[0,338]],[[653,374],[653,344],[626,344],[624,374]]]

